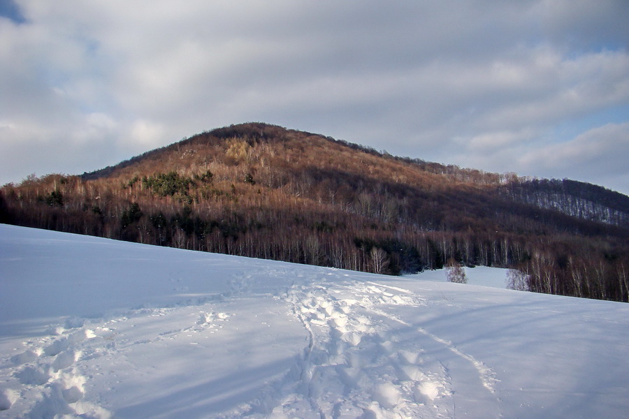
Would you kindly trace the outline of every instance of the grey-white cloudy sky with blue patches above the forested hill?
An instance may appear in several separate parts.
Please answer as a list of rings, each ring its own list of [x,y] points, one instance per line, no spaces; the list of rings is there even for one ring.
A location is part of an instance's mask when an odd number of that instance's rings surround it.
[[[0,0],[0,184],[268,122],[629,194],[626,0]]]

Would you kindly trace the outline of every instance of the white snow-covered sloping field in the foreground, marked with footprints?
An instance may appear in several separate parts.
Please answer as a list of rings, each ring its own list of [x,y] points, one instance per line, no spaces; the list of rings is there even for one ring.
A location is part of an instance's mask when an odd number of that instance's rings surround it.
[[[421,278],[0,226],[0,418],[626,417],[628,304]]]

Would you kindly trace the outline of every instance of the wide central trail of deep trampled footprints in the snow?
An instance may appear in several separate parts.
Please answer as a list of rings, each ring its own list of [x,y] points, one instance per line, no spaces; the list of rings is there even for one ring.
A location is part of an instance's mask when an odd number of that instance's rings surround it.
[[[412,418],[449,416],[449,376],[427,360],[417,341],[404,338],[381,307],[421,305],[412,295],[393,294],[375,285],[351,281],[328,291],[296,285],[289,301],[310,330],[301,392],[313,417]],[[273,413],[298,414],[294,404],[280,404]]]

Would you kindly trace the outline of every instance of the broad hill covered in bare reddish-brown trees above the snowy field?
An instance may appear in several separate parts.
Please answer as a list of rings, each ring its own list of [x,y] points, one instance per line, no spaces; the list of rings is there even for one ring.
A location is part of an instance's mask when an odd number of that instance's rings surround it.
[[[0,221],[399,274],[517,267],[533,291],[628,300],[629,198],[241,124],[0,191]]]

